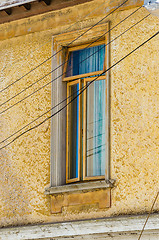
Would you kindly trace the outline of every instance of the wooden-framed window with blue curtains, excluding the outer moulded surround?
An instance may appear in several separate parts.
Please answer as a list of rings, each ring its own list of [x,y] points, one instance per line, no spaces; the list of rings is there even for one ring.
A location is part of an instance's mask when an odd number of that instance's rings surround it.
[[[105,178],[106,76],[99,76],[106,67],[104,43],[66,54],[66,183]]]

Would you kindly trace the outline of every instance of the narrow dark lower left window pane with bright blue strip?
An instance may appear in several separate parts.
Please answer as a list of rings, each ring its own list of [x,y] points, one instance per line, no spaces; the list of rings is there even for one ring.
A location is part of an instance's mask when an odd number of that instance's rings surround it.
[[[70,86],[70,98],[77,96],[79,84]],[[78,177],[78,148],[79,148],[79,97],[69,104],[69,178]]]

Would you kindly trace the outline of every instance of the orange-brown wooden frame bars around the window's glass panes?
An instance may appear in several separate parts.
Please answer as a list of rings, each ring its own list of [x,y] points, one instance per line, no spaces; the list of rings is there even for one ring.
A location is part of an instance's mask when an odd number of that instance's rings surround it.
[[[95,42],[93,43],[90,47],[94,47],[94,46],[100,46],[105,44],[105,57],[104,57],[104,63],[103,63],[103,70],[101,71],[95,71],[95,72],[90,72],[90,73],[84,73],[84,74],[80,74],[80,75],[74,75],[74,76],[70,76],[70,77],[64,77],[63,81],[67,83],[67,130],[66,130],[66,183],[73,183],[73,182],[79,182],[79,181],[91,181],[91,180],[102,180],[105,179],[105,175],[101,175],[101,176],[86,176],[86,166],[87,166],[87,158],[86,158],[86,109],[87,109],[87,103],[86,103],[86,99],[87,99],[87,89],[84,90],[83,94],[83,112],[81,113],[82,109],[81,109],[81,105],[82,105],[82,96],[81,94],[79,95],[79,102],[80,102],[80,107],[79,107],[79,148],[78,148],[78,177],[77,178],[73,178],[70,179],[69,178],[69,169],[70,169],[70,160],[69,160],[69,88],[72,85],[75,85],[77,83],[79,83],[79,89],[81,89],[82,87],[82,83],[83,88],[85,89],[87,82],[91,82],[91,81],[99,81],[99,80],[106,80],[106,75],[102,75],[99,76],[96,80],[96,77],[92,77],[94,75],[101,75],[103,73],[103,71],[106,69],[107,67],[107,37],[105,37],[105,40],[99,41],[99,42]],[[70,47],[67,49],[66,51],[66,55],[65,55],[65,65],[63,68],[64,74],[67,70],[67,66],[68,66],[68,61],[69,61],[69,55],[71,52],[73,51],[78,51],[78,50],[82,50],[85,49],[86,46],[89,46],[89,44],[81,44],[79,46],[74,46],[74,47]],[[83,79],[82,79],[83,78]],[[82,114],[83,114],[83,134],[82,134]],[[82,135],[83,135],[83,143],[82,143]],[[83,147],[83,151],[82,151],[82,147]],[[83,156],[83,161],[82,161],[82,156]],[[81,167],[83,164],[83,167]],[[82,174],[83,173],[83,174]]]

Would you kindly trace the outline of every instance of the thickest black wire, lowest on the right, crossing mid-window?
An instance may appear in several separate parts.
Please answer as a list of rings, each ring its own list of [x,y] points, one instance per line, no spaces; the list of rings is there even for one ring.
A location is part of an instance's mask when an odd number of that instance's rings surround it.
[[[122,62],[125,58],[127,58],[128,56],[130,56],[132,53],[134,53],[136,50],[138,50],[140,47],[142,47],[143,45],[145,45],[147,42],[149,42],[151,39],[153,39],[154,37],[156,37],[159,34],[159,31],[156,32],[155,34],[153,34],[150,38],[148,38],[146,41],[144,41],[142,44],[140,44],[139,46],[137,46],[135,49],[133,49],[131,52],[129,52],[127,55],[125,55],[123,58],[121,58],[119,61],[117,61],[115,64],[113,64],[111,67],[109,67],[108,69],[106,69],[105,71],[103,71],[103,73],[101,73],[99,76],[97,76],[94,80],[92,80],[91,82],[88,83],[88,85],[86,85],[85,88],[83,88],[80,93],[78,93],[71,101],[69,101],[69,103],[67,103],[65,106],[63,106],[61,109],[59,109],[57,112],[53,113],[51,116],[45,118],[42,122],[40,122],[39,124],[35,125],[34,127],[26,130],[25,132],[21,133],[20,135],[18,135],[17,137],[15,137],[12,141],[10,141],[9,143],[7,143],[6,145],[4,145],[3,147],[0,148],[0,150],[4,149],[5,147],[9,146],[11,143],[13,143],[16,139],[18,139],[19,137],[23,136],[24,134],[26,134],[27,132],[41,126],[44,122],[48,121],[50,118],[54,117],[55,115],[57,115],[58,113],[60,113],[63,109],[65,109],[69,104],[71,104],[75,99],[77,99],[77,97],[79,95],[81,95],[94,81],[96,81],[100,76],[102,76],[103,74],[105,74],[106,72],[108,72],[110,69],[112,69],[113,67],[115,67],[117,64],[119,64],[120,62]]]

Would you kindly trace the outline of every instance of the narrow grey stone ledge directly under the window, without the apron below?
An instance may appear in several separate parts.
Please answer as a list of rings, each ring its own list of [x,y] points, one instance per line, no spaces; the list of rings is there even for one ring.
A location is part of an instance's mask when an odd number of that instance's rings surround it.
[[[92,181],[85,183],[67,184],[57,187],[49,187],[45,189],[46,195],[60,194],[60,193],[70,193],[79,191],[92,191],[97,189],[106,189],[114,187],[114,180],[102,180],[102,181]]]

